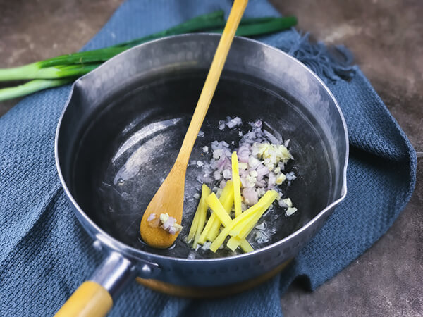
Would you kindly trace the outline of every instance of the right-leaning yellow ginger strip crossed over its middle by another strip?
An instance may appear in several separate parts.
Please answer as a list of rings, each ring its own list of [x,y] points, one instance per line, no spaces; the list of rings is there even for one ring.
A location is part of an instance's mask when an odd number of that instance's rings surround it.
[[[229,213],[231,211],[232,205],[233,205],[233,182],[232,180],[228,180],[226,182],[225,188],[223,188],[223,191],[221,193],[221,197],[219,198],[219,201],[223,205],[223,207],[226,209],[226,211]],[[230,205],[230,206],[229,206]],[[228,209],[227,209],[227,206]],[[213,241],[214,238],[219,234],[219,228],[220,228],[221,221],[216,216],[215,213],[212,213],[212,216],[210,216],[209,220],[207,220],[206,226],[204,227],[204,230],[202,231],[200,235],[200,239],[198,240],[198,243],[204,244],[206,240]],[[216,229],[217,227],[217,229]],[[213,231],[213,232],[212,232]],[[216,232],[216,233],[214,233]]]

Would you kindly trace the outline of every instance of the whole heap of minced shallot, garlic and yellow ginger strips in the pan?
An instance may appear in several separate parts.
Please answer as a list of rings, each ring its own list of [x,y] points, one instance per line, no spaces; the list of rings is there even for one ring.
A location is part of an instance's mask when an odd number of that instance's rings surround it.
[[[222,130],[240,129],[241,125],[242,120],[238,117],[219,121]],[[198,237],[192,244],[193,249],[198,249],[198,244],[202,244],[202,250],[210,249],[213,252],[224,247],[232,251],[238,247],[244,252],[253,251],[246,240],[251,232],[251,239],[256,244],[265,244],[276,230],[268,228],[265,222],[257,225],[275,201],[286,209],[286,216],[297,211],[281,191],[281,185],[290,185],[296,178],[293,171],[286,169],[287,163],[293,160],[288,142],[264,130],[261,120],[249,125],[251,130],[247,133],[238,131],[241,137],[238,149],[231,149],[228,142],[216,140],[210,147],[202,148],[204,153],[210,152],[208,157],[211,161],[204,159],[193,162],[202,170],[202,176],[197,180],[203,185],[207,183],[212,186],[211,192],[207,192],[206,196],[202,194],[192,220],[188,242],[192,241],[194,235]],[[235,142],[231,142],[231,145],[235,145]],[[198,199],[199,195],[195,195],[195,198]],[[212,211],[206,220],[208,208]],[[202,227],[198,228],[197,213],[200,209],[203,220]]]

